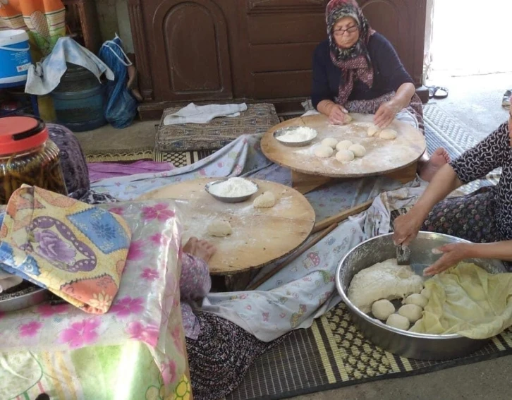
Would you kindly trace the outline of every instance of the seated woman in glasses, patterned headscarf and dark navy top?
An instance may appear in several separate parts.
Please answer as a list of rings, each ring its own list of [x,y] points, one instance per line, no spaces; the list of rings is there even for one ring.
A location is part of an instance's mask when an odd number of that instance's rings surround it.
[[[395,119],[423,131],[423,111],[415,85],[388,40],[370,28],[355,0],[331,0],[326,9],[329,40],[313,56],[312,104],[334,124],[347,112],[375,114],[374,124],[386,128]],[[430,181],[449,162],[437,149],[420,160],[419,174]]]

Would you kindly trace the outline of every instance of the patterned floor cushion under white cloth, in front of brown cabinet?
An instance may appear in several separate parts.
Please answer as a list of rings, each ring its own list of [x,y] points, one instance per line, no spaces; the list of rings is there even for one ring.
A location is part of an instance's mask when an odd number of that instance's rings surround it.
[[[164,125],[164,118],[181,107],[166,109],[157,130],[156,148],[161,152],[219,150],[240,135],[262,133],[279,123],[274,104],[248,104],[236,118],[216,118],[205,124]]]

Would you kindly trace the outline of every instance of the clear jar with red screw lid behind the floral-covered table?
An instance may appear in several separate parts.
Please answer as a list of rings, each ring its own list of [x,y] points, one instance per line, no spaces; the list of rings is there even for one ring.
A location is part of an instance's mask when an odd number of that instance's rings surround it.
[[[0,118],[0,204],[23,183],[67,195],[59,161],[59,147],[41,119]]]

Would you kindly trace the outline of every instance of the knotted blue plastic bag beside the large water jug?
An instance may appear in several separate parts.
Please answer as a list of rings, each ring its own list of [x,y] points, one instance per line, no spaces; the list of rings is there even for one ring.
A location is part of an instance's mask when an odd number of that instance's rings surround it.
[[[115,80],[106,82],[105,119],[114,128],[126,128],[133,123],[137,115],[138,102],[131,94],[128,83],[128,66],[131,61],[123,51],[123,42],[116,35],[107,40],[99,49],[99,58],[114,72]]]

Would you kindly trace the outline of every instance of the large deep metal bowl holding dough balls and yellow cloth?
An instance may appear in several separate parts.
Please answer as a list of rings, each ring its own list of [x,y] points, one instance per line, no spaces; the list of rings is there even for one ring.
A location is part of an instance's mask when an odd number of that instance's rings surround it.
[[[417,334],[389,327],[379,320],[362,313],[351,301],[347,292],[352,278],[361,269],[371,267],[377,262],[396,258],[396,246],[393,234],[371,238],[353,248],[336,269],[336,286],[343,302],[351,312],[355,326],[374,344],[390,353],[419,360],[448,360],[467,356],[480,349],[486,340],[475,340],[457,334],[432,335]],[[441,255],[432,253],[433,248],[448,243],[468,243],[467,241],[444,234],[420,232],[410,244],[410,263],[431,265]],[[492,274],[506,272],[504,265],[497,260],[467,260],[486,269]],[[415,272],[418,273],[417,269]]]

